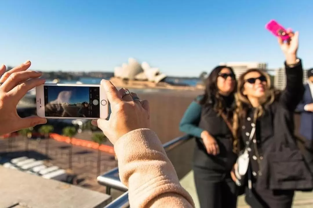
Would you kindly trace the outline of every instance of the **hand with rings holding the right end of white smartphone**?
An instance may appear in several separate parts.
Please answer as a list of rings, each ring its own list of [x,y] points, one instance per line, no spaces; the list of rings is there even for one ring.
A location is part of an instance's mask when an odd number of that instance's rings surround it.
[[[93,120],[91,123],[99,127],[114,145],[124,134],[139,128],[150,128],[150,112],[147,100],[136,100],[136,93],[124,95],[128,89],[117,91],[108,80],[102,80],[108,100],[111,105],[110,119]],[[123,96],[124,95],[124,96]]]

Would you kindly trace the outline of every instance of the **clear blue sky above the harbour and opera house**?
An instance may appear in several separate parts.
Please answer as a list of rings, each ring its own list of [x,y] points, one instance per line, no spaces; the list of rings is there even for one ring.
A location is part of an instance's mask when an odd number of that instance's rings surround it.
[[[0,63],[34,70],[113,71],[134,57],[167,75],[198,76],[219,62],[284,57],[265,24],[300,32],[313,67],[311,0],[0,0]]]

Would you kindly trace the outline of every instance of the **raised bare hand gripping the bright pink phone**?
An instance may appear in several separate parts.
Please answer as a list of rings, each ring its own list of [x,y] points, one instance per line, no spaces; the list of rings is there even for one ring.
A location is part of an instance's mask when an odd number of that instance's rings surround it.
[[[297,60],[297,51],[299,47],[299,32],[293,33],[291,30],[287,30],[287,34],[290,36],[288,41],[283,41],[280,37],[278,42],[280,48],[286,56],[287,64],[295,64]]]

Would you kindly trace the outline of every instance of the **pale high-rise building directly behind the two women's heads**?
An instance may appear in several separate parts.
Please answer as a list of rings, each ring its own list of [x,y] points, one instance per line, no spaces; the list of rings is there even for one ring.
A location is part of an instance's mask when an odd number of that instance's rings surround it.
[[[248,69],[257,68],[266,71],[267,68],[267,63],[263,62],[221,62],[219,65],[232,67],[237,79]]]

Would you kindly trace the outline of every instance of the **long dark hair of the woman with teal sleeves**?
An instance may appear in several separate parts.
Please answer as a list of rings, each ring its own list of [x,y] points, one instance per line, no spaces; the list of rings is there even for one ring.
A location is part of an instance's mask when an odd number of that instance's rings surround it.
[[[231,73],[235,76],[235,73],[233,71],[233,68],[229,66],[217,66],[215,67],[208,78],[205,80],[205,91],[203,98],[199,101],[199,104],[205,105],[205,104],[212,104],[213,108],[216,112],[221,114],[226,106],[224,105],[223,99],[221,98],[220,94],[218,93],[218,87],[217,87],[217,78],[219,76],[219,73],[222,69],[227,68],[230,70]],[[236,81],[236,79],[235,79]],[[237,82],[235,83],[235,87],[233,92],[229,94],[229,96],[234,97],[234,92],[237,88]]]

